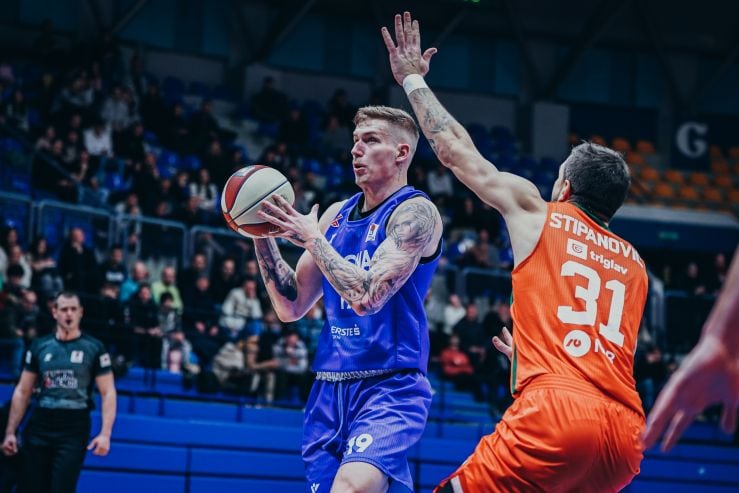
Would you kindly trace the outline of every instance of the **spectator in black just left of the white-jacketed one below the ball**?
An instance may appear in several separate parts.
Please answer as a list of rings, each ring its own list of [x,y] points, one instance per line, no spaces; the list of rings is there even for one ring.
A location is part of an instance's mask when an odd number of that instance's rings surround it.
[[[193,352],[201,367],[208,368],[224,340],[221,338],[218,313],[209,290],[210,281],[207,277],[198,277],[193,284],[194,290],[188,291],[191,294],[184,299],[185,335],[192,343]]]

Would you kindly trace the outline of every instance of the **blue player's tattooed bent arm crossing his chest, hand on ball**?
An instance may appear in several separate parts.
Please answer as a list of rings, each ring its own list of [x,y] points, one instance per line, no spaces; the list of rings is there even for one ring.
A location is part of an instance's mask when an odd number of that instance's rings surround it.
[[[315,209],[302,215],[282,197],[277,206],[263,204],[260,215],[279,226],[282,236],[302,246],[336,292],[359,315],[376,313],[415,270],[424,252],[441,238],[439,211],[424,198],[412,198],[398,206],[387,224],[387,238],[375,251],[369,270],[339,255],[315,226]],[[278,207],[279,206],[279,207]]]

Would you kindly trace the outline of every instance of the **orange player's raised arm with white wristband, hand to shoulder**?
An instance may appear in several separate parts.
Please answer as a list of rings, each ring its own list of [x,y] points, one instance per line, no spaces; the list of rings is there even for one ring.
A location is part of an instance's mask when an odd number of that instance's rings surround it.
[[[504,216],[519,210],[540,211],[545,203],[530,181],[499,171],[475,148],[467,130],[441,105],[423,81],[435,48],[421,53],[417,20],[410,13],[395,16],[395,38],[387,28],[382,36],[395,80],[404,87],[423,134],[439,160],[485,203]]]

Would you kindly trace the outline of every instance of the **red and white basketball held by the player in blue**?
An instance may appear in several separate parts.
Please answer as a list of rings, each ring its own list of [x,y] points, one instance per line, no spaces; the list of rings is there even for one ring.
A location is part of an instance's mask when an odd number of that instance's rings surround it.
[[[277,232],[277,226],[257,216],[259,205],[275,194],[291,204],[295,201],[292,185],[276,169],[257,164],[236,171],[226,181],[221,195],[221,212],[226,224],[249,238]]]

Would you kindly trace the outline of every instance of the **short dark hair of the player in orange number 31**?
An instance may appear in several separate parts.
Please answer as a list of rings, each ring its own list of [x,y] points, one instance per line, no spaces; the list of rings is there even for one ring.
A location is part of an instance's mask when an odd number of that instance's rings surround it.
[[[629,193],[631,178],[623,156],[608,147],[583,142],[565,161],[571,201],[610,221]]]

